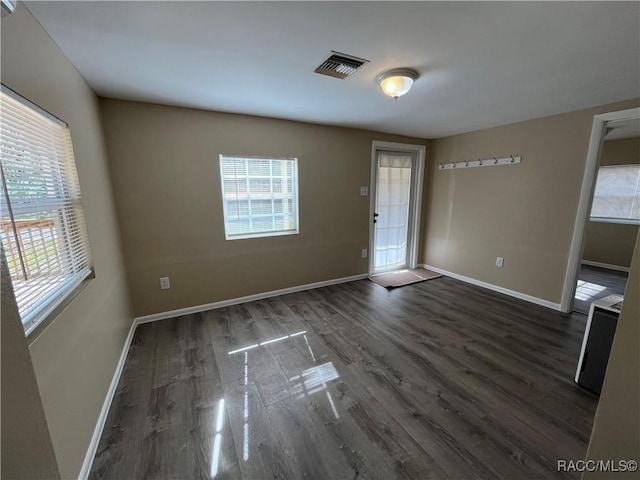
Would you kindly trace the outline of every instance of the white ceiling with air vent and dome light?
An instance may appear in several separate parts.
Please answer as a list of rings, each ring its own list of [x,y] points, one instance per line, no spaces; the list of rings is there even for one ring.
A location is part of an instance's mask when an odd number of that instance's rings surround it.
[[[640,97],[639,2],[27,4],[106,97],[422,138]],[[331,50],[371,62],[313,73]]]

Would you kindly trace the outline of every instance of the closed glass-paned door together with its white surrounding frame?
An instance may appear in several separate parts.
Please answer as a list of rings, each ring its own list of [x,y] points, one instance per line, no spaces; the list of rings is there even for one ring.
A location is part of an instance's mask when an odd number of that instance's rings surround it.
[[[373,142],[369,274],[418,265],[426,147]]]

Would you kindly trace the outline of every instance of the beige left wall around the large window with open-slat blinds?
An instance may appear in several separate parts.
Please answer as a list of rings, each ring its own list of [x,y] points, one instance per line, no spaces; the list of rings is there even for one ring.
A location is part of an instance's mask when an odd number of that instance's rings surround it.
[[[2,19],[2,83],[71,128],[96,278],[29,349],[60,474],[77,478],[133,320],[98,102],[22,2]]]

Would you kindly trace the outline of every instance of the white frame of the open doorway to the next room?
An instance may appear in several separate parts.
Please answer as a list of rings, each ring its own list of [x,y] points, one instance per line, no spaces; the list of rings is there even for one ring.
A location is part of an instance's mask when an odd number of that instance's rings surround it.
[[[569,313],[573,306],[573,297],[575,295],[578,275],[580,273],[580,261],[582,260],[584,249],[587,222],[589,221],[589,213],[591,212],[593,191],[595,190],[596,179],[598,177],[598,166],[600,165],[600,155],[602,154],[602,146],[604,144],[607,125],[609,122],[634,120],[637,118],[640,118],[640,108],[630,108],[628,110],[620,110],[617,112],[601,113],[593,117],[591,139],[589,141],[589,153],[587,154],[587,162],[584,169],[584,176],[582,178],[580,201],[578,202],[578,210],[576,212],[576,219],[573,227],[573,237],[571,239],[567,269],[564,277],[562,298],[560,300],[560,311],[563,313]]]

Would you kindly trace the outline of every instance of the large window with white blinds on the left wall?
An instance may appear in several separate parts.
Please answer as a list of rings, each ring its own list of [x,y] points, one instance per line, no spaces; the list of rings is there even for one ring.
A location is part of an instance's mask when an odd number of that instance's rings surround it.
[[[2,86],[2,248],[29,334],[91,273],[66,124]]]

